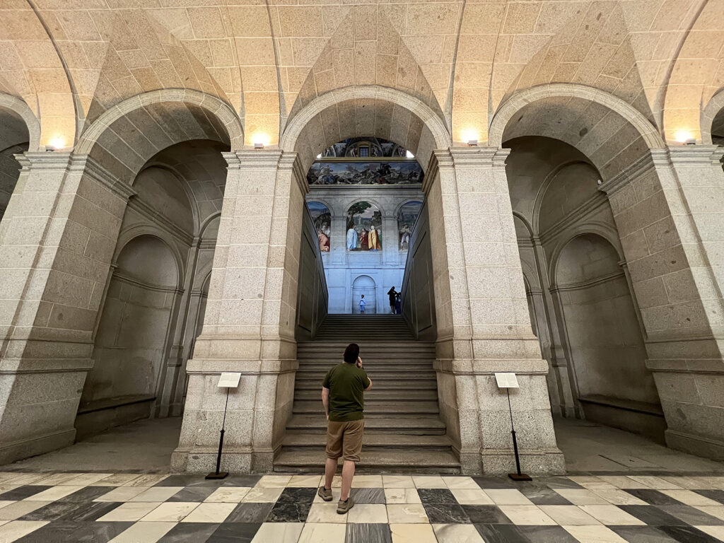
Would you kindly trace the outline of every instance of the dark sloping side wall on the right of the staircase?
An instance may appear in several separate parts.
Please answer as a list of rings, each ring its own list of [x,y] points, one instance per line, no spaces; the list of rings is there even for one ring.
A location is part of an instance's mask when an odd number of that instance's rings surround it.
[[[423,204],[410,236],[401,292],[403,319],[416,339],[435,340],[437,327],[427,202]]]

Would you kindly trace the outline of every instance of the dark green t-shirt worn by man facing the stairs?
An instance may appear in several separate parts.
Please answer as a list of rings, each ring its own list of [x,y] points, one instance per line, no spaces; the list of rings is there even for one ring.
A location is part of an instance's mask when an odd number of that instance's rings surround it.
[[[342,362],[327,371],[321,386],[329,389],[330,421],[358,421],[364,418],[364,390],[369,387],[366,371],[356,364]]]

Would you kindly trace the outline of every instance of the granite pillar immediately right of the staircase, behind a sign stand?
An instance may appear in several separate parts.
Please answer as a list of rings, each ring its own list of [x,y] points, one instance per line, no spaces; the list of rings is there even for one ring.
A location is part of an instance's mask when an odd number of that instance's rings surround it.
[[[465,473],[507,473],[515,467],[508,398],[494,373],[514,371],[521,387],[510,396],[522,467],[560,473],[548,364],[531,330],[507,156],[496,148],[435,151],[426,176],[440,408]]]

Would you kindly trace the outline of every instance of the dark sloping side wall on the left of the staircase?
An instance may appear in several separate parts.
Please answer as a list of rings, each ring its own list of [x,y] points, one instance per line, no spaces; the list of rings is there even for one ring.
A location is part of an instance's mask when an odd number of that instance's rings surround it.
[[[319,237],[307,206],[304,206],[302,216],[301,237],[296,336],[297,340],[312,340],[319,330],[319,325],[327,316],[329,293],[319,249]]]

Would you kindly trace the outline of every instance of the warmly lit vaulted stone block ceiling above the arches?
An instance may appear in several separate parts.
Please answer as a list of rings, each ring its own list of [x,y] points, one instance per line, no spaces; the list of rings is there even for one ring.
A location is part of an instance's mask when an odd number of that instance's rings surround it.
[[[228,104],[246,145],[261,133],[275,145],[305,106],[350,85],[399,90],[454,142],[484,143],[501,104],[550,83],[600,89],[672,142],[699,137],[724,87],[724,0],[294,1],[0,0],[0,92],[41,119],[41,145],[70,147],[105,111],[170,88]],[[584,102],[536,106],[573,108],[545,135],[592,132],[569,122],[597,109]],[[386,133],[395,108],[379,108]]]

